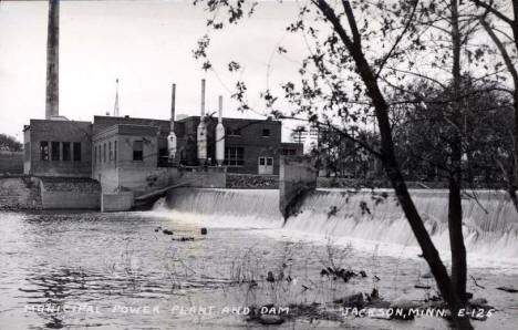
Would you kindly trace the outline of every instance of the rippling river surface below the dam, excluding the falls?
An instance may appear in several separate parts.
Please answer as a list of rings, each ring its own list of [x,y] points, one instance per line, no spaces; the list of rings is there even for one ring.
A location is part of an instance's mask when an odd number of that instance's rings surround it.
[[[372,254],[346,250],[343,266],[370,277],[352,285],[330,282],[320,276],[329,258],[325,246],[242,228],[209,228],[201,236],[196,225],[146,213],[0,213],[0,329],[249,328],[253,324],[242,316],[189,316],[177,307],[327,302],[351,290],[372,290],[373,275],[381,278],[380,292],[396,298],[415,292],[416,274],[426,271],[421,260],[374,262]],[[173,237],[155,231],[157,226],[173,229]],[[173,239],[179,237],[195,239]],[[282,280],[266,281],[269,271]],[[480,274],[488,282],[511,285],[514,279]],[[503,300],[500,308],[506,306]],[[516,313],[509,318],[517,319]]]

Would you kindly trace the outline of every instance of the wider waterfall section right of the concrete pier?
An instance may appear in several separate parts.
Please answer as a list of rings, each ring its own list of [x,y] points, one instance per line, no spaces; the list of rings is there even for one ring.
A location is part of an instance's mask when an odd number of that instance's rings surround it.
[[[448,192],[412,190],[417,210],[439,250],[449,250],[447,230]],[[463,198],[463,231],[468,252],[518,256],[518,221],[503,192],[479,190]],[[391,190],[348,192],[318,189],[310,194],[287,230],[319,233],[324,237],[349,237],[417,246],[403,210]]]

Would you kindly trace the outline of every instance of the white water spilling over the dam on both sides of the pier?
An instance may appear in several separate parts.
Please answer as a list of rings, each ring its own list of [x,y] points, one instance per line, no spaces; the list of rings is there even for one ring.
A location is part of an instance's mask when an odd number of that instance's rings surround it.
[[[377,194],[383,190],[376,190]],[[371,192],[318,189],[300,213],[283,224],[278,190],[177,189],[155,212],[214,227],[278,228],[266,234],[352,244],[381,255],[416,258],[414,235],[390,190],[376,203]],[[374,195],[375,196],[375,195]],[[412,196],[443,258],[448,259],[447,190],[413,190]],[[518,224],[501,192],[477,192],[463,199],[464,235],[472,266],[518,270]],[[363,208],[361,204],[366,205]]]

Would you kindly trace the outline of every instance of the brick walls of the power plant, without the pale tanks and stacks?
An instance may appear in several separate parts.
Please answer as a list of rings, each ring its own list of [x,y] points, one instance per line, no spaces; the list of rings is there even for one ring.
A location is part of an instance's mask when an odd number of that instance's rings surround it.
[[[206,116],[207,161],[199,164],[199,116],[174,122],[176,164],[168,161],[170,121],[94,116],[93,123],[31,120],[24,127],[24,173],[39,176],[115,177],[117,168],[155,168],[172,165],[216,165],[217,118]],[[281,143],[281,122],[224,118],[225,162],[229,173],[279,174],[282,154],[301,154],[297,144]]]

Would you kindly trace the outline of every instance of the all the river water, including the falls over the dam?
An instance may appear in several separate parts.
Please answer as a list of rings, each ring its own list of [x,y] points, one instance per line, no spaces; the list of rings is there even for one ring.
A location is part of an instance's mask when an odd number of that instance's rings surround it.
[[[407,228],[398,217],[381,218],[394,214],[392,207],[382,213],[370,205],[362,220],[353,209],[355,198],[366,197],[351,197],[353,202],[344,206],[336,194],[312,196],[296,221],[286,225],[274,190],[179,189],[152,212],[0,213],[0,329],[258,328],[262,326],[247,322],[244,316],[252,305],[325,303],[373,288],[387,300],[422,300],[434,293],[414,288],[434,282],[421,277],[428,272],[427,266],[416,256],[412,239],[405,238]],[[330,214],[333,206],[336,209]],[[433,208],[428,207],[429,217]],[[516,329],[517,293],[496,289],[517,285],[518,262],[511,255],[516,240],[509,238],[515,234],[509,234],[510,221],[500,218],[484,227],[476,213],[468,213],[466,224],[473,250],[469,276],[476,279],[468,281],[468,290],[498,311],[475,326]],[[353,225],[343,224],[346,219]],[[469,229],[475,225],[476,237]],[[441,246],[442,225],[428,226]],[[201,227],[207,227],[207,235],[200,235]],[[163,234],[165,228],[174,234]],[[364,270],[367,277],[348,283],[321,277],[321,269],[331,264]],[[276,278],[282,274],[282,280],[265,281],[269,271]],[[339,327],[447,329],[448,324],[429,317],[401,322],[344,316],[339,321],[298,318],[281,326]]]

